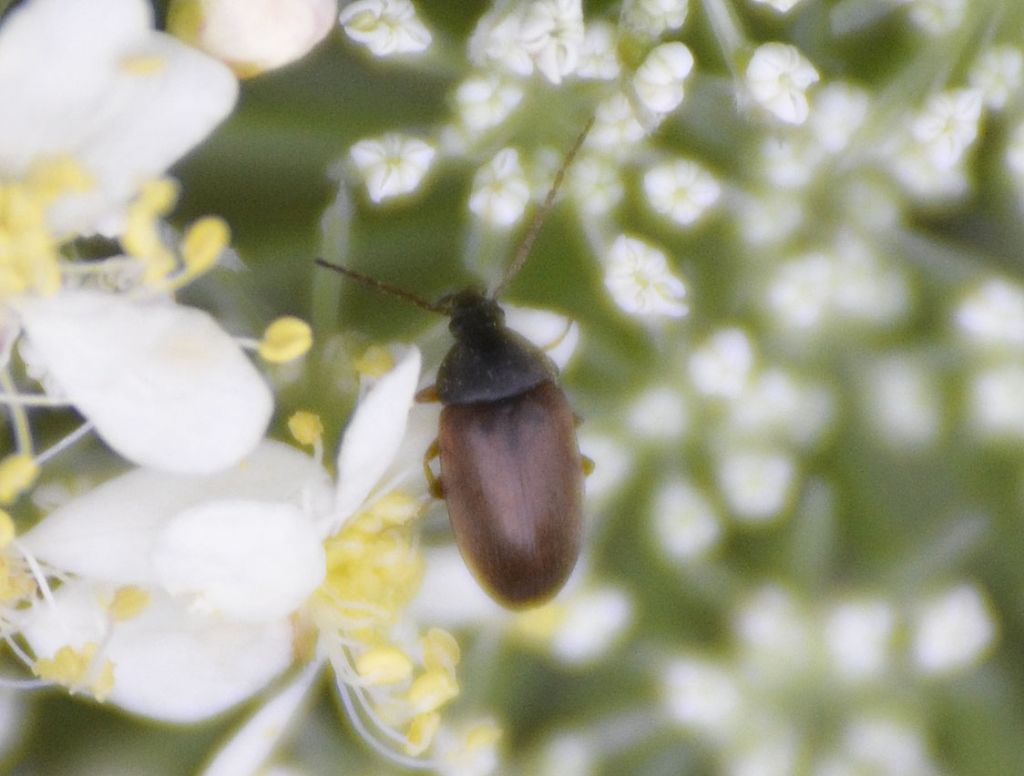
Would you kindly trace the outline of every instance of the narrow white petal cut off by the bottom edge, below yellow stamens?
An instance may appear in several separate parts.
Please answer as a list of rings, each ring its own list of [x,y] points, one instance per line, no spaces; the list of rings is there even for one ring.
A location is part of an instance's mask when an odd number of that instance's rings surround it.
[[[202,776],[251,776],[260,772],[298,718],[319,676],[322,663],[304,667],[239,728]]]

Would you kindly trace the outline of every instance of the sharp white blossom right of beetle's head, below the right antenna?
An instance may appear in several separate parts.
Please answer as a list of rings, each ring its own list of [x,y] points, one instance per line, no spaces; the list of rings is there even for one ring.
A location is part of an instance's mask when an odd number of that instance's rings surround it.
[[[615,304],[632,315],[682,317],[686,286],[669,268],[666,255],[636,238],[621,234],[605,261],[604,285]]]

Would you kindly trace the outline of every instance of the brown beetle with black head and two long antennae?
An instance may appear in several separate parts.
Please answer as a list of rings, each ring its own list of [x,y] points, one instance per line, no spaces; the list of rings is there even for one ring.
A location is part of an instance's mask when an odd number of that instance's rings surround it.
[[[583,544],[584,474],[575,416],[558,369],[505,325],[498,297],[525,263],[587,123],[555,175],[501,284],[469,288],[436,303],[323,259],[316,264],[450,317],[455,343],[419,401],[443,405],[424,457],[431,492],[447,503],[459,551],[480,586],[503,606],[538,606],[561,590]],[[431,469],[440,460],[440,477]]]

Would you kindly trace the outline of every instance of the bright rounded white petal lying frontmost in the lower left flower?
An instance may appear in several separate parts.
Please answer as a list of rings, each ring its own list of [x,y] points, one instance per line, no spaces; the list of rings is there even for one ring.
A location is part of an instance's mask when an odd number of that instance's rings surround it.
[[[215,501],[171,518],[154,548],[164,590],[225,617],[287,617],[324,579],[324,547],[294,505]]]

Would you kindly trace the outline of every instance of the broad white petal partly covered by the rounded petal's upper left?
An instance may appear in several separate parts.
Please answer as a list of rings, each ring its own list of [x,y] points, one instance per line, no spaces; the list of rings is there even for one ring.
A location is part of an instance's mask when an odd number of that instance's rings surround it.
[[[214,475],[138,469],[73,499],[22,536],[39,560],[114,585],[156,587],[153,550],[173,516],[213,500],[299,504],[327,487],[326,474],[299,450],[265,441],[239,466]]]

